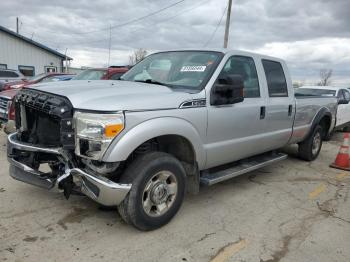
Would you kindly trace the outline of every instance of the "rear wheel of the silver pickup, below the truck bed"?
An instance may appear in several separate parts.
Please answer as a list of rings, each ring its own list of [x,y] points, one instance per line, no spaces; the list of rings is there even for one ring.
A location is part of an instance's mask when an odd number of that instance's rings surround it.
[[[315,160],[322,148],[322,127],[317,125],[312,134],[299,143],[299,157],[306,161]]]

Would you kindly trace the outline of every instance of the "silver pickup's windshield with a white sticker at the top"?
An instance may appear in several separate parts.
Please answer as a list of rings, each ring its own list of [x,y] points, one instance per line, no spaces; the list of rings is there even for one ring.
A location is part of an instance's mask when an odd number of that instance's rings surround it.
[[[222,53],[207,51],[156,53],[136,64],[121,77],[121,80],[201,90],[222,56]]]

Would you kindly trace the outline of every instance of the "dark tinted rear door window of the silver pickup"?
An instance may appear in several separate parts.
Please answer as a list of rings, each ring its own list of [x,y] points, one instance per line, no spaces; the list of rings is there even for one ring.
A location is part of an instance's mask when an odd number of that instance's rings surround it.
[[[262,60],[270,97],[288,96],[286,77],[279,62]]]

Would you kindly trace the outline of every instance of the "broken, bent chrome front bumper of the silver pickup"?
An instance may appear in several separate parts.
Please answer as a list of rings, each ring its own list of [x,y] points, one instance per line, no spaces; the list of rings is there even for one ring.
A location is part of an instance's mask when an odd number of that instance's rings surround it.
[[[60,181],[69,176],[79,181],[80,192],[105,206],[120,204],[130,191],[130,184],[118,184],[104,176],[87,173],[80,168],[66,168],[65,174],[52,177],[48,173],[35,170],[16,159],[15,150],[54,154],[66,158],[61,148],[33,146],[17,140],[17,134],[11,134],[7,140],[7,155],[10,162],[10,175],[16,180],[48,190],[58,189]]]

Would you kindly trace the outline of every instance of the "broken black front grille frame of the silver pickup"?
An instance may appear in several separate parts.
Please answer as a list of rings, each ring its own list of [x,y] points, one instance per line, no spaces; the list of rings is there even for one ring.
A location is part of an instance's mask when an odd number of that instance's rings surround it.
[[[21,141],[74,149],[73,107],[67,98],[23,89],[16,95],[15,112]]]

